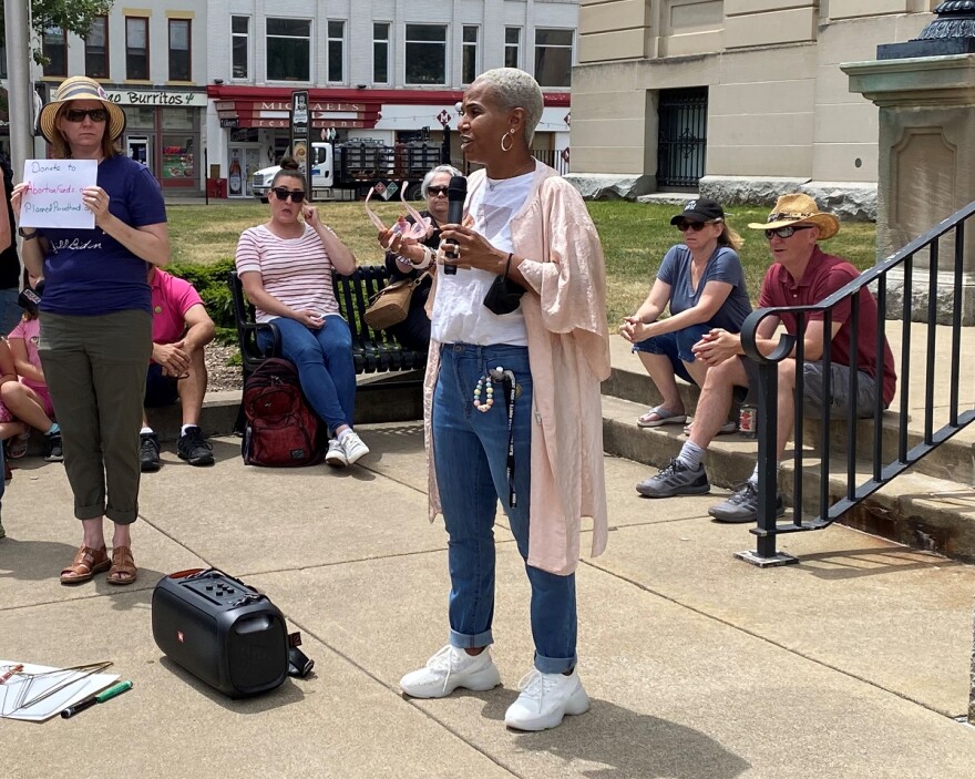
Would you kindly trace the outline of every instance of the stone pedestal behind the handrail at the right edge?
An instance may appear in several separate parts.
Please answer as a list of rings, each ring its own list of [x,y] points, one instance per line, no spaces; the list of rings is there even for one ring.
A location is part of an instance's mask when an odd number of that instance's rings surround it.
[[[975,201],[975,54],[913,57],[840,65],[850,91],[880,109],[876,252],[889,257],[913,238]],[[938,297],[938,322],[953,308],[954,239],[938,246],[937,289],[930,289],[927,253],[914,258],[915,320]],[[962,324],[975,325],[975,230],[967,230],[963,262]],[[887,314],[900,318],[903,271],[887,280]]]

